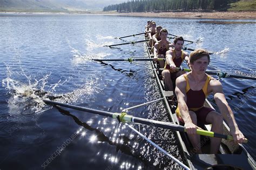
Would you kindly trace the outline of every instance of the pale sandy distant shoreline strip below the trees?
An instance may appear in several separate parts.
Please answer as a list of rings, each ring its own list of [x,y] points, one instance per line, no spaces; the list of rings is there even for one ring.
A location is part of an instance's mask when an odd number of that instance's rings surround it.
[[[242,12],[0,12],[1,14],[86,14],[131,17],[205,18],[205,19],[256,19],[256,11]]]

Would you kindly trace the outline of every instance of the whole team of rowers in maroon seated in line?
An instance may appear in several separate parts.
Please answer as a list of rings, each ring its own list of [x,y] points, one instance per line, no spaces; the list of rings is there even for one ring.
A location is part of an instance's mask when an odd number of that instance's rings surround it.
[[[183,51],[183,37],[176,37],[173,43],[167,40],[168,31],[156,22],[148,21],[145,26],[145,34],[149,39],[152,48],[154,61],[164,69],[161,74],[165,83],[166,91],[175,91],[178,107],[177,117],[181,124],[184,124],[188,137],[194,147],[193,151],[202,153],[200,148],[200,136],[196,134],[197,125],[212,124],[211,131],[223,133],[223,120],[225,119],[230,127],[230,133],[234,142],[245,141],[244,135],[238,128],[234,114],[228,105],[223,86],[220,81],[205,73],[210,63],[210,55],[204,49],[196,49],[188,55]],[[164,60],[158,60],[165,58]],[[177,71],[183,61],[186,61],[191,72]],[[173,87],[175,84],[175,89]],[[212,93],[220,113],[210,107],[205,107],[204,102],[208,94]],[[217,154],[221,139],[211,138],[211,153]]]

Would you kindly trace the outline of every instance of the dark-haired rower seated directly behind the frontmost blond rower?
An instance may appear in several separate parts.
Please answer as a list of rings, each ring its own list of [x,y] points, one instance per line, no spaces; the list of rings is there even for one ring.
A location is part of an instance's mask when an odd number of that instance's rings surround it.
[[[188,63],[189,55],[182,50],[183,44],[183,37],[176,37],[173,40],[174,49],[166,52],[165,66],[162,72],[166,91],[173,91],[173,83],[175,84],[176,78],[185,73],[185,71],[176,71],[176,67],[180,67],[184,59]]]

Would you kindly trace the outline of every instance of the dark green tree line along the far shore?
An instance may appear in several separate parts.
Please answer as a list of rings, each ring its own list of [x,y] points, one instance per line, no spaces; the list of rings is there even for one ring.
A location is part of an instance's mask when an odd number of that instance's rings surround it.
[[[227,10],[228,4],[239,0],[130,0],[128,2],[105,6],[103,11],[117,12],[168,12]]]

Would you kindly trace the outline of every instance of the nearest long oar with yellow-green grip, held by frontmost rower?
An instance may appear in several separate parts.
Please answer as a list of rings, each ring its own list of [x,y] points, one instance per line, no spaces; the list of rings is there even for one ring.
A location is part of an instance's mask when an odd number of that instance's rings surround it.
[[[171,123],[167,123],[167,122],[163,122],[163,121],[138,118],[138,117],[134,117],[132,115],[128,115],[125,112],[112,113],[112,112],[100,111],[100,110],[96,110],[96,109],[92,109],[92,108],[86,108],[86,107],[81,107],[81,106],[59,103],[59,102],[51,101],[51,100],[43,100],[43,101],[46,104],[58,105],[58,106],[73,108],[73,109],[79,110],[79,111],[104,115],[106,117],[111,117],[113,119],[118,119],[118,121],[120,121],[122,123],[140,123],[140,124],[144,124],[144,125],[152,125],[152,126],[156,126],[156,127],[167,128],[167,129],[173,130],[173,131],[186,132],[184,126],[171,124]],[[214,133],[214,132],[211,132],[211,131],[205,131],[205,130],[197,129],[197,134],[205,135],[207,137],[215,137],[215,138],[223,138],[223,139],[227,139],[227,140],[233,140],[233,137],[231,135],[219,134],[219,133]],[[245,139],[244,142],[246,143],[247,141],[248,140]]]

